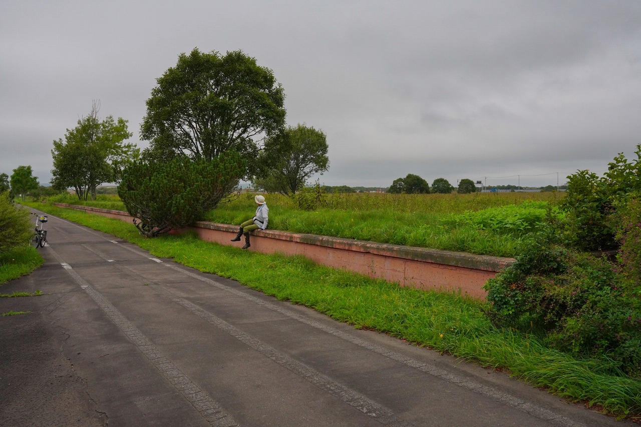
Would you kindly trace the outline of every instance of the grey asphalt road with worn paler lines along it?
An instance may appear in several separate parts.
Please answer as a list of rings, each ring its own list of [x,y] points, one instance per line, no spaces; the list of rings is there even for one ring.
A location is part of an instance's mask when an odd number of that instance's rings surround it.
[[[43,292],[0,298],[31,312],[0,317],[2,426],[628,424],[111,235],[47,229],[45,264],[0,287]]]

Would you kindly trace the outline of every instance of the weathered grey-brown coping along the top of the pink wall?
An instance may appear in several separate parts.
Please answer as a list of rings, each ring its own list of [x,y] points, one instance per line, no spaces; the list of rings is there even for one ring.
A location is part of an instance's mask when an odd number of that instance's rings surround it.
[[[93,206],[69,205],[67,203],[53,203],[56,206],[85,210],[88,212],[108,213],[110,215],[121,215],[130,217],[129,213],[120,210],[94,208]],[[197,221],[194,226],[210,230],[227,231],[236,233],[238,226],[231,224],[217,224],[216,222]],[[419,262],[433,264],[454,265],[483,271],[502,271],[512,264],[514,258],[502,256],[476,255],[466,252],[445,251],[441,249],[428,249],[425,247],[403,246],[387,243],[369,242],[367,240],[345,239],[342,237],[320,236],[306,233],[291,233],[279,230],[256,230],[253,235],[267,237],[268,239],[287,240],[316,246],[333,247],[347,251],[372,253],[374,255],[392,256]]]

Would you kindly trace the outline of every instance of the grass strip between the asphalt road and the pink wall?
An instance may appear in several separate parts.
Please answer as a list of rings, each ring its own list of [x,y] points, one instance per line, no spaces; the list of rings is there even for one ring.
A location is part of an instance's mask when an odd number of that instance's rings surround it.
[[[153,255],[237,280],[265,294],[315,308],[333,319],[406,339],[479,364],[509,370],[537,387],[618,416],[641,414],[641,381],[609,360],[577,360],[548,349],[536,337],[497,330],[485,303],[456,294],[424,292],[287,257],[203,242],[193,235],[141,237],[126,222],[48,205],[51,215],[129,240]],[[259,271],[246,269],[251,260]]]

